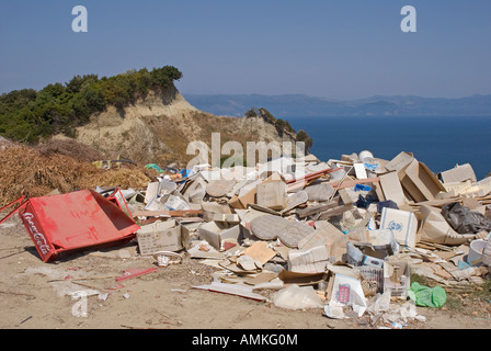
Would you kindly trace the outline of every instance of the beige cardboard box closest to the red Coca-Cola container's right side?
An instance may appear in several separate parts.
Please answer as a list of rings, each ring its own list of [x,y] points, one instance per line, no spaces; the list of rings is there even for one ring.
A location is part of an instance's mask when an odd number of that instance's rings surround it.
[[[187,229],[174,219],[141,226],[137,238],[141,256],[151,256],[158,251],[180,251],[190,247]]]

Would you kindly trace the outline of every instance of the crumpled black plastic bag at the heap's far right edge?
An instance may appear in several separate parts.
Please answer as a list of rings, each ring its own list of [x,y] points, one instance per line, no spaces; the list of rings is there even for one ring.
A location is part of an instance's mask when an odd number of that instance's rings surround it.
[[[458,202],[444,205],[442,215],[458,234],[491,231],[491,219],[486,218],[479,212],[470,211],[469,207]]]

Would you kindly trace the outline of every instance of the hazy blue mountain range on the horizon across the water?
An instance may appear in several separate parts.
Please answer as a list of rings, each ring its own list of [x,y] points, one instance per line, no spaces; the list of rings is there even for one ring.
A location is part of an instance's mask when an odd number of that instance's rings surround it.
[[[414,95],[382,97],[351,101],[302,94],[184,94],[196,109],[216,115],[242,116],[251,107],[265,107],[276,117],[288,116],[491,116],[491,95],[458,99]]]

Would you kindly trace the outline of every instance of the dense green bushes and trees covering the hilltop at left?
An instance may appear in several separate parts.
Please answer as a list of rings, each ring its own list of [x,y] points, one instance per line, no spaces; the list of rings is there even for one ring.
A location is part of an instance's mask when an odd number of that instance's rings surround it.
[[[167,89],[181,78],[179,69],[164,66],[101,79],[77,75],[65,84],[47,84],[39,91],[14,90],[0,95],[0,135],[28,143],[55,133],[72,135],[73,127],[109,104],[123,109],[149,89]]]

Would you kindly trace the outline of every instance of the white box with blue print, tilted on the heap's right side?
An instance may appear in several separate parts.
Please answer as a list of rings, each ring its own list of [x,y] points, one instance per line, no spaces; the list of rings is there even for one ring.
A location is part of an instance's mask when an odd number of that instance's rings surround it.
[[[384,207],[380,215],[380,229],[390,229],[396,240],[403,246],[416,245],[418,218],[408,211]]]

